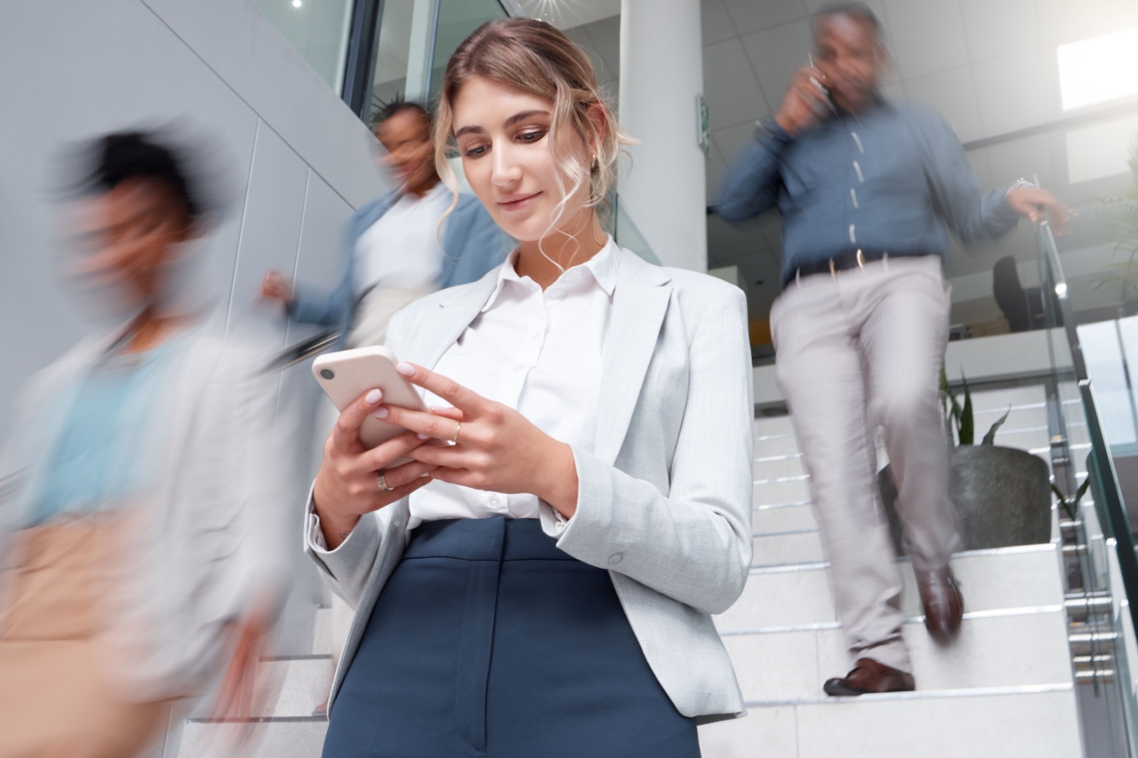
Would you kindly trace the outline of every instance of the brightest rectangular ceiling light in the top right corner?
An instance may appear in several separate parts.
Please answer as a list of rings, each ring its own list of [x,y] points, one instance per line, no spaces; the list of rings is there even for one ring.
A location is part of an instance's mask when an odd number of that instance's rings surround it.
[[[1138,94],[1138,28],[1061,44],[1063,110]]]

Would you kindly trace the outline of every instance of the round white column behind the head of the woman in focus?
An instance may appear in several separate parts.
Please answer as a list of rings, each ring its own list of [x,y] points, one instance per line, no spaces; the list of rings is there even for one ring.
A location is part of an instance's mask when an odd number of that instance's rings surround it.
[[[621,0],[620,124],[640,144],[620,202],[665,266],[707,270],[707,186],[696,95],[700,0]]]

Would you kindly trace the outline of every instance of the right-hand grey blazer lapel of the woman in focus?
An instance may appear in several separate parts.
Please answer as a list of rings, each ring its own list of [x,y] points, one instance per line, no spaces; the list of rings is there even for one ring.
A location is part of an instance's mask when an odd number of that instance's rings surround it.
[[[596,457],[608,464],[617,460],[655,352],[671,300],[671,288],[666,286],[669,281],[665,269],[621,250],[596,420]]]

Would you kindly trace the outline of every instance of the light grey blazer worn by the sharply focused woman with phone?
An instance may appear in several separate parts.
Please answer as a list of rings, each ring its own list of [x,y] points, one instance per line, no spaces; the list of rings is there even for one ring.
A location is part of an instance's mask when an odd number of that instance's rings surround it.
[[[434,367],[496,281],[494,269],[404,308],[391,319],[388,347]],[[710,614],[735,602],[751,565],[751,394],[743,293],[621,250],[595,455],[574,449],[580,485],[569,523],[559,526],[544,502],[541,520],[561,550],[609,569],[652,672],[679,713],[700,723],[745,714]],[[356,608],[333,700],[403,555],[407,518],[404,498],[361,519],[333,551],[305,539],[335,591]]]

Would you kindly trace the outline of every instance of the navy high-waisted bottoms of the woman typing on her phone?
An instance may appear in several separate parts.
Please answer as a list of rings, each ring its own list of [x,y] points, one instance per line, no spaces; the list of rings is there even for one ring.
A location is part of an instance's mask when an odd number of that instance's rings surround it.
[[[537,519],[428,522],[372,610],[324,758],[694,758],[609,573]]]

